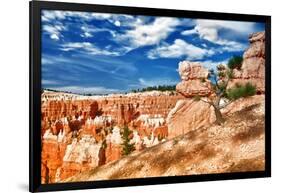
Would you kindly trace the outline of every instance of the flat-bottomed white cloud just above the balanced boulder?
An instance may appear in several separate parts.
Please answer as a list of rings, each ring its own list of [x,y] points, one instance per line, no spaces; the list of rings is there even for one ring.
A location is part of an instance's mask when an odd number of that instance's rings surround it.
[[[194,46],[181,39],[176,39],[173,44],[165,44],[148,52],[148,58],[178,58],[185,56],[187,60],[202,59],[214,54],[213,50],[207,50]]]

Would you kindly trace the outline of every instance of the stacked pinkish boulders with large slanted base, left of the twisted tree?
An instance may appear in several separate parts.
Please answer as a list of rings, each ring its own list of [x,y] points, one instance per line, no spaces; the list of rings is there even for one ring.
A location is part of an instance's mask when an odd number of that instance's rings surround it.
[[[194,96],[211,94],[208,70],[198,62],[183,61],[179,63],[179,74],[182,81],[176,89],[187,98],[178,100],[167,116],[169,138],[196,130],[215,120],[213,109],[208,104],[192,99]]]

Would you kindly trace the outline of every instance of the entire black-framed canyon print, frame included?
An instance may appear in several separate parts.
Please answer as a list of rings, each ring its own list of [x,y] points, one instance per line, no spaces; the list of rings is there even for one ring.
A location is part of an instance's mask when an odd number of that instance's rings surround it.
[[[30,191],[269,177],[270,19],[30,2]]]

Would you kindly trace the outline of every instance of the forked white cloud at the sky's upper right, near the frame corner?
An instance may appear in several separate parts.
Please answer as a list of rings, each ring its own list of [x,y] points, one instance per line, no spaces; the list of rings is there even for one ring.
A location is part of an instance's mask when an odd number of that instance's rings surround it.
[[[222,21],[222,20],[206,20],[197,19],[195,27],[191,30],[183,31],[182,35],[198,34],[200,38],[208,40],[212,43],[225,46],[224,51],[241,51],[245,49],[245,45],[236,41],[221,37],[219,31],[226,29],[233,31],[234,34],[248,35],[254,31],[254,22],[241,21]]]

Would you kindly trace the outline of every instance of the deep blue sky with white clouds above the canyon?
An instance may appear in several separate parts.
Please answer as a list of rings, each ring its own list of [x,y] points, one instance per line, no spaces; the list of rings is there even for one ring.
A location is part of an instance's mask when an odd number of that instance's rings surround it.
[[[206,68],[242,55],[263,23],[42,11],[42,87],[109,94],[175,85],[182,60]]]

